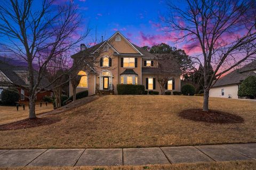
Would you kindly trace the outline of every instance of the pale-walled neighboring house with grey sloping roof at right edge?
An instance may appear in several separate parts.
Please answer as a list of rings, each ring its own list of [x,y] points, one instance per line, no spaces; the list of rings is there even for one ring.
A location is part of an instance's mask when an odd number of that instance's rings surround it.
[[[210,97],[239,98],[237,94],[240,84],[252,75],[256,76],[256,61],[220,78],[210,89]]]

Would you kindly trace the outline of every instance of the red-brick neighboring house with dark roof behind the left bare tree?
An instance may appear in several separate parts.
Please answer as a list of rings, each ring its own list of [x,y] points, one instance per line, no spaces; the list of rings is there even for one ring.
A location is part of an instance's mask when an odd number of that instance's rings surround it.
[[[39,88],[46,86],[46,84],[49,84],[49,81],[46,78],[43,78]],[[29,92],[26,90],[29,87],[28,71],[26,67],[0,63],[0,95],[3,89],[7,89],[9,87],[15,87],[19,90],[21,101],[28,101],[28,98],[25,97],[29,96]],[[42,100],[44,96],[53,96],[53,92],[49,90],[38,93],[36,99],[38,101]]]

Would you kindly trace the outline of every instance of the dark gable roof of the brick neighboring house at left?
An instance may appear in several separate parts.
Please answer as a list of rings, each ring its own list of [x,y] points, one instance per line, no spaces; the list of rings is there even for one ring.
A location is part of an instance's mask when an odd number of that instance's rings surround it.
[[[28,78],[28,69],[25,66],[14,66],[7,63],[0,63],[0,85],[2,86],[12,86],[16,84],[17,86],[28,87],[29,82]],[[2,75],[2,78],[1,78]],[[5,76],[5,78],[3,77]],[[35,80],[38,77],[38,73],[35,71]],[[10,81],[1,81],[6,80],[6,78]],[[42,81],[39,84],[39,88],[45,87],[50,84],[49,80],[45,77],[42,78]],[[51,88],[51,87],[50,87]]]

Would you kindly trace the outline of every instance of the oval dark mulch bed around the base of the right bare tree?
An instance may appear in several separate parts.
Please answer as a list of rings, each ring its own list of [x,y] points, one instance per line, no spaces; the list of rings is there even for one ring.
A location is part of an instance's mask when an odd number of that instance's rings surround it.
[[[230,113],[209,110],[207,112],[202,109],[189,109],[179,113],[179,116],[192,121],[201,121],[209,123],[243,123],[244,119]]]

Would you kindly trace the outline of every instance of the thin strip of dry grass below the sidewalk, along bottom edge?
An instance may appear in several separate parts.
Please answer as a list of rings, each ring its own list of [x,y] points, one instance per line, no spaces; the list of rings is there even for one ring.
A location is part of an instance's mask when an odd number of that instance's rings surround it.
[[[235,161],[235,162],[213,162],[213,163],[197,163],[197,164],[172,164],[172,165],[148,165],[148,166],[81,166],[81,167],[6,167],[1,170],[213,170],[213,169],[233,169],[233,170],[247,170],[256,169],[256,161]]]

